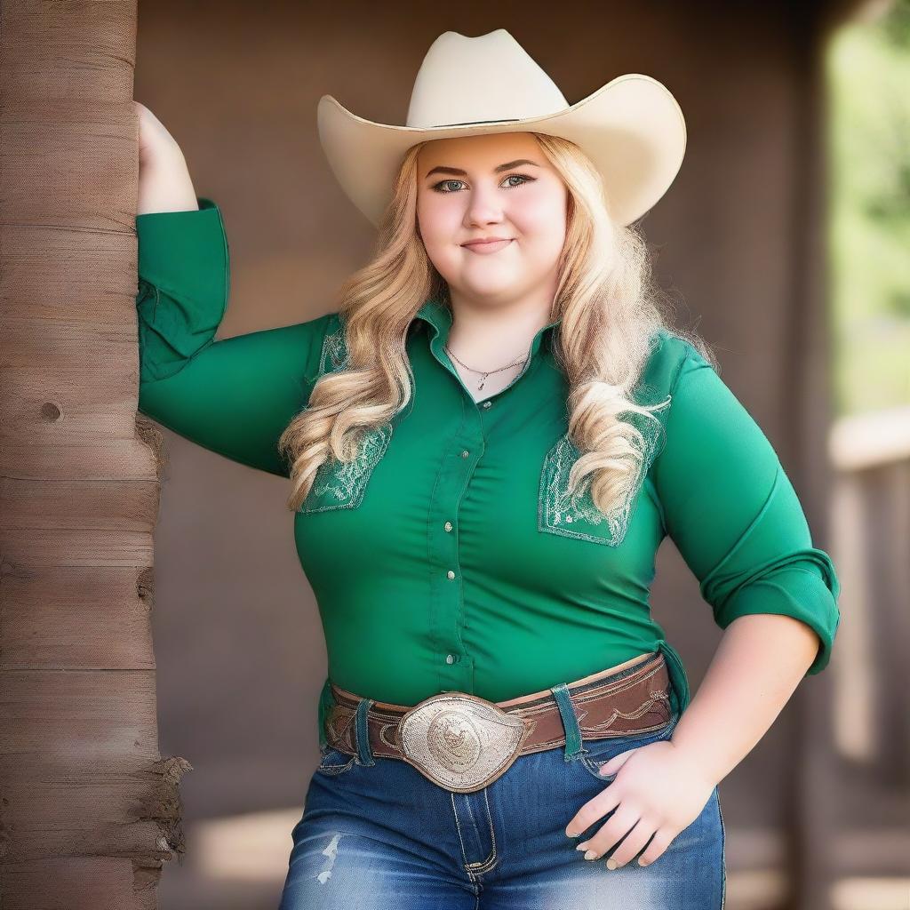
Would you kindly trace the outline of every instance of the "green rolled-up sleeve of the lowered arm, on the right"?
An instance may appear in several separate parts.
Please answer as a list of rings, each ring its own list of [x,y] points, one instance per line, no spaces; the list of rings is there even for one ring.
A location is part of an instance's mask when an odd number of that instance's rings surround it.
[[[664,527],[700,582],[714,620],[776,613],[804,622],[824,670],[840,622],[840,582],[761,428],[691,345],[671,389],[654,465]]]

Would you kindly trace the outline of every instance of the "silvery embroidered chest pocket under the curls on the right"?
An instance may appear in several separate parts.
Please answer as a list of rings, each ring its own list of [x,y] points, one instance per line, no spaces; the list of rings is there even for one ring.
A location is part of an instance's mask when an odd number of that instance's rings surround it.
[[[622,543],[642,482],[657,454],[658,443],[662,441],[662,425],[657,420],[634,413],[628,420],[644,437],[644,457],[622,502],[612,512],[604,514],[594,504],[590,489],[570,496],[569,472],[581,453],[572,444],[569,434],[563,433],[543,460],[537,510],[539,531],[611,547]]]

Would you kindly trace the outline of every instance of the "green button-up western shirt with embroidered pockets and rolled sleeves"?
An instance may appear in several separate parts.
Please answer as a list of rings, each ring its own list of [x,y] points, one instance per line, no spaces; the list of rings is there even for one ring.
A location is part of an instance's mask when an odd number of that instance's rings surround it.
[[[229,296],[221,213],[136,217],[139,410],[188,440],[282,477],[278,436],[347,352],[338,313],[215,339]],[[726,628],[779,613],[819,637],[827,664],[840,621],[828,555],[771,443],[697,349],[661,329],[635,391],[671,397],[660,422],[632,415],[648,444],[614,513],[570,501],[578,451],[568,383],[538,331],[511,384],[475,402],[444,345],[450,310],[428,299],[407,352],[408,407],[372,430],[357,460],[322,465],[294,515],[319,604],[329,679],[413,705],[444,691],[498,702],[571,682],[644,652],[668,659],[676,705],[690,701],[678,653],[651,615],[655,554],[671,537]],[[807,674],[807,675],[808,675]]]

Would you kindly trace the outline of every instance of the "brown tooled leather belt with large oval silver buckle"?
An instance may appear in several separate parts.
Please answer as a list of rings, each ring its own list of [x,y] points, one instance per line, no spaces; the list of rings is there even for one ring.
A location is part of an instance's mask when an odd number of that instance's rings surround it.
[[[615,678],[619,675],[619,678]],[[359,695],[330,683],[329,748],[357,755]],[[621,671],[567,683],[581,740],[648,733],[672,718],[671,682],[662,652]],[[550,689],[506,702],[445,692],[413,707],[369,702],[369,749],[374,757],[410,763],[434,784],[470,793],[492,783],[520,756],[564,746],[565,727]]]

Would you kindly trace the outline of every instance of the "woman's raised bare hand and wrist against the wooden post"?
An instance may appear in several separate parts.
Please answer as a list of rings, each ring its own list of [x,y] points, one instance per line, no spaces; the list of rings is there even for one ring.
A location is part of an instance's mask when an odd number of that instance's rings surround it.
[[[138,121],[137,215],[198,209],[196,190],[177,140],[144,104],[134,100]]]

